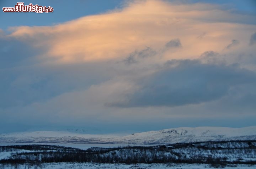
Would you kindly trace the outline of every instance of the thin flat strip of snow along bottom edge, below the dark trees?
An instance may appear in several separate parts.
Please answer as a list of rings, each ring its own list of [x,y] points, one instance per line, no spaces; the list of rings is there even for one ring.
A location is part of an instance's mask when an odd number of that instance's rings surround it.
[[[6,166],[4,169],[13,169]],[[39,167],[19,165],[18,169],[213,169],[208,164],[98,164],[98,163],[51,163],[42,164]],[[255,169],[255,165],[236,165],[233,167],[225,167],[225,169]]]

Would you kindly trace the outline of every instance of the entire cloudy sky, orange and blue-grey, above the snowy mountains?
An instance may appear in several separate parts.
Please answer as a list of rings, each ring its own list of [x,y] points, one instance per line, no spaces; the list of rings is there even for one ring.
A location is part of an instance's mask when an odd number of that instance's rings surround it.
[[[255,1],[23,2],[54,12],[0,13],[0,133],[255,125]]]

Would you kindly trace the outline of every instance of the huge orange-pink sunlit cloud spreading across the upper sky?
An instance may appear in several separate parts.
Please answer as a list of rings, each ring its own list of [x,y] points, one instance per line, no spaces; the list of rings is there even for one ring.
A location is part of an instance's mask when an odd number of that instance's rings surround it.
[[[45,48],[39,58],[51,64],[124,59],[135,49],[180,47],[180,41],[182,52],[177,55],[177,51],[170,50],[175,56],[166,54],[171,56],[166,60],[195,59],[204,51],[219,52],[231,38],[243,41],[255,30],[256,26],[251,25],[254,20],[253,15],[222,10],[211,4],[129,1],[121,10],[53,26],[12,27],[9,36]],[[197,38],[198,35],[203,38]]]

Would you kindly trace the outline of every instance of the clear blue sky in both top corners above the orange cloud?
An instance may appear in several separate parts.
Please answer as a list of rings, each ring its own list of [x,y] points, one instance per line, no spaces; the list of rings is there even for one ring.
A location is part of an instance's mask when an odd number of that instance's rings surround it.
[[[122,8],[124,3],[123,0],[78,0],[73,3],[68,0],[37,0],[36,2],[25,0],[22,2],[24,2],[25,5],[32,3],[47,7],[52,6],[54,7],[54,13],[19,13],[19,19],[17,19],[16,13],[1,13],[1,29],[20,25],[43,26],[58,24],[82,16],[99,14],[115,8]],[[255,13],[256,11],[256,2],[254,0],[184,0],[172,2],[190,4],[213,3],[231,6],[243,12]],[[0,5],[1,7],[14,7],[16,3],[17,1],[14,0],[2,0]]]

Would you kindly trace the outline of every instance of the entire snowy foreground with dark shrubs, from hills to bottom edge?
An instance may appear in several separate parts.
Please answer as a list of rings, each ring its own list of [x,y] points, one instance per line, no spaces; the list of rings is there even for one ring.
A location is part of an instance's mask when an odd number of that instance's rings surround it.
[[[256,140],[91,147],[87,150],[42,144],[0,146],[0,168],[10,167],[255,168]]]

